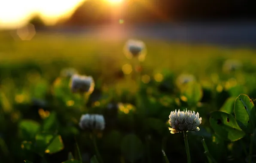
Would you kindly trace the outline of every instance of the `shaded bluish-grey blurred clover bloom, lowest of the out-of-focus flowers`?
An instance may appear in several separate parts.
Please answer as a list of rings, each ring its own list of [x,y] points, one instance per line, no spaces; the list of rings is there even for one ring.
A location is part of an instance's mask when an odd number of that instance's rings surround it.
[[[79,122],[79,127],[82,130],[104,130],[105,128],[105,119],[103,115],[98,114],[85,114],[82,115]]]

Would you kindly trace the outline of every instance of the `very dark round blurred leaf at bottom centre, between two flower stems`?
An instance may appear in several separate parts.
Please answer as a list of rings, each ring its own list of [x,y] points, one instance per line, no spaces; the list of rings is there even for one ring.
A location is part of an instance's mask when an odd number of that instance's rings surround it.
[[[121,151],[123,156],[134,163],[143,156],[143,144],[134,134],[129,134],[122,139]]]

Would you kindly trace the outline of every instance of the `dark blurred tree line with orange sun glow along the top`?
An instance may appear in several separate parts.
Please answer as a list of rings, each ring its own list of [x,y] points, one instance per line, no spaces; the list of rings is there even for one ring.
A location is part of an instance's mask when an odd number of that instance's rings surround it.
[[[221,21],[255,19],[253,0],[124,0],[112,6],[104,0],[85,0],[70,19],[58,26],[83,26],[118,22],[128,24],[170,21]]]

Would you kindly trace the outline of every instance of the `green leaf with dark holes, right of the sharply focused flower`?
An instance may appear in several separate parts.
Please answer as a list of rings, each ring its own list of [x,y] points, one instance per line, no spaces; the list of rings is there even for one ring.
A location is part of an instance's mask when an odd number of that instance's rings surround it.
[[[210,113],[210,125],[222,139],[233,142],[245,136],[235,118],[226,112],[215,111]]]

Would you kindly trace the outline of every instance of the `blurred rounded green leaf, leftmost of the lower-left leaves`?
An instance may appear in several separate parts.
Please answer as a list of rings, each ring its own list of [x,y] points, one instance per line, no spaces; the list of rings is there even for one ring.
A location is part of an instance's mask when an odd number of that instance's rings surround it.
[[[29,141],[35,139],[36,134],[40,130],[40,124],[33,120],[22,120],[19,124],[21,136]]]

